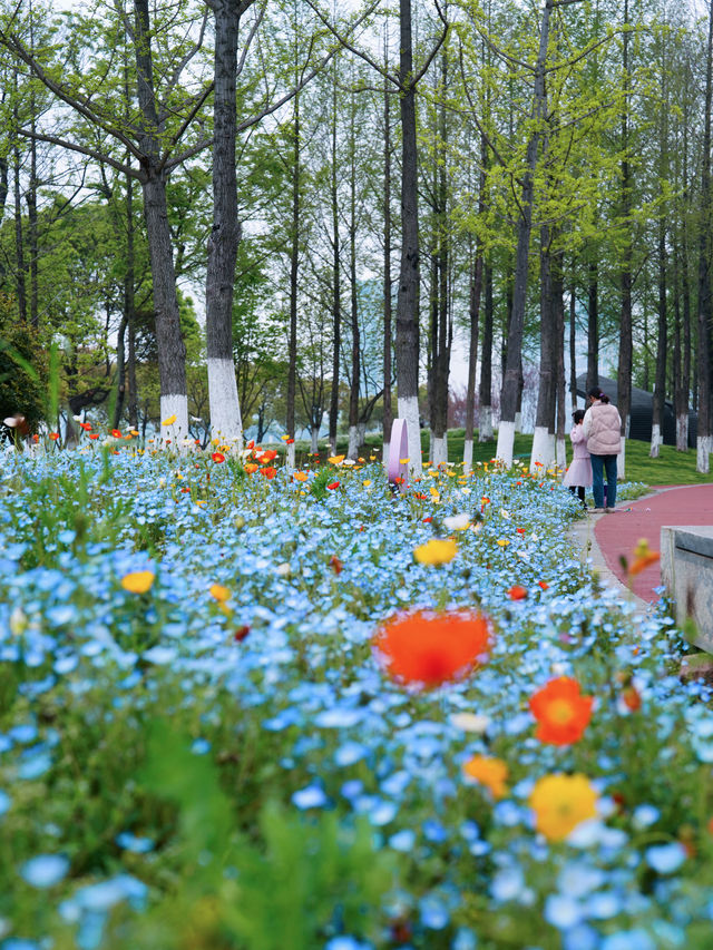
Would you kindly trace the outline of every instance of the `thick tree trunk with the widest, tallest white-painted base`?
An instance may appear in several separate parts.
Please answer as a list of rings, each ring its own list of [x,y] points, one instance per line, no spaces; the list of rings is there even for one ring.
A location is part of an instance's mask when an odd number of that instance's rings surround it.
[[[214,439],[235,442],[242,449],[243,422],[233,359],[233,292],[241,241],[235,173],[240,13],[235,0],[212,2],[215,18],[213,229],[208,241],[205,294],[211,433]]]

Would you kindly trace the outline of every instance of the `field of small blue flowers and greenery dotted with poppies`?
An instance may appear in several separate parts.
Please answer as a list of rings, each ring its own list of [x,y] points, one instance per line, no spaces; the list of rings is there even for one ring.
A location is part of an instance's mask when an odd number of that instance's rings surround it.
[[[0,950],[711,947],[710,689],[551,473],[117,441],[0,481]],[[487,657],[390,675],[417,610]]]

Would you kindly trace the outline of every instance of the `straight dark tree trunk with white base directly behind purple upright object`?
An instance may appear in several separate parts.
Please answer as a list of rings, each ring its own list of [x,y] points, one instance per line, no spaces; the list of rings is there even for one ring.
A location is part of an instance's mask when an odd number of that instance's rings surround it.
[[[399,415],[409,431],[410,468],[421,473],[419,415],[419,213],[411,0],[399,0],[401,114],[401,268],[397,302]]]

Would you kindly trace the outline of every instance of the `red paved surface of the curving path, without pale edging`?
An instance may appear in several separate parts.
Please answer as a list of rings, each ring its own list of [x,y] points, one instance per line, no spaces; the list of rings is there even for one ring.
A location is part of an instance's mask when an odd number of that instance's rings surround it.
[[[627,584],[619,556],[629,564],[639,538],[646,538],[657,551],[664,525],[713,526],[713,484],[685,484],[653,489],[656,493],[637,501],[617,501],[617,510],[597,518],[597,543],[609,570]],[[634,578],[633,590],[642,600],[657,600],[653,588],[661,584],[661,567],[655,564]]]

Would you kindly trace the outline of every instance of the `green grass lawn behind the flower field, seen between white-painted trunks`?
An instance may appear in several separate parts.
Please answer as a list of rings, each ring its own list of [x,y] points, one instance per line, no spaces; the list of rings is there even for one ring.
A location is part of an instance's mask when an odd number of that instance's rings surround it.
[[[488,442],[476,441],[472,447],[472,456],[475,462],[487,462],[495,458],[497,441]],[[451,462],[461,462],[463,458],[463,429],[449,429],[448,431],[448,458]],[[346,452],[349,440],[346,435],[339,435],[336,439],[336,451],[340,453]],[[364,453],[375,449],[381,456],[381,435],[371,434],[367,437]],[[429,447],[429,434],[427,430],[421,432],[421,447],[426,454]],[[641,481],[645,484],[703,484],[710,482],[711,474],[702,474],[696,471],[696,452],[695,449],[688,449],[685,452],[677,452],[672,445],[662,445],[657,459],[652,459],[648,442],[638,442],[629,439],[626,443],[626,481]],[[514,453],[517,457],[529,459],[533,449],[533,437],[516,434]],[[297,464],[303,464],[307,461],[307,452],[310,445],[307,442],[296,443],[296,460]],[[328,456],[328,449],[323,442],[320,442],[320,461],[324,461]],[[567,462],[572,459],[572,445],[567,438]]]

